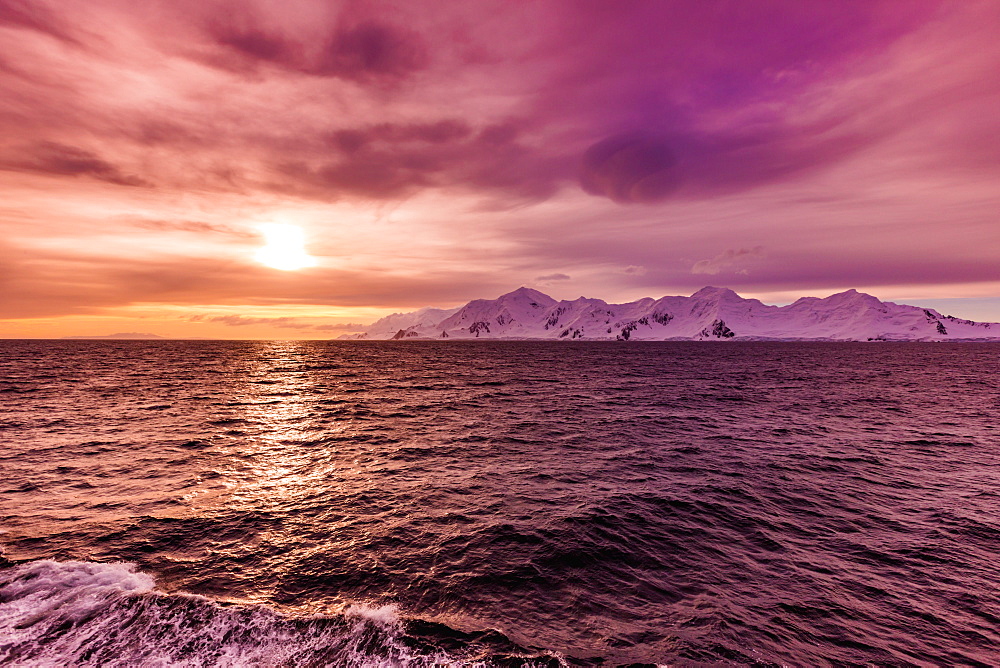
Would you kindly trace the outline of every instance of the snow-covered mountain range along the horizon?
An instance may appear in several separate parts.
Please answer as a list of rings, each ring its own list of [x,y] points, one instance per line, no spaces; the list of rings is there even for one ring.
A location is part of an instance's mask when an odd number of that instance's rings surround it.
[[[518,288],[454,309],[395,313],[344,338],[1000,341],[1000,324],[883,302],[857,290],[768,306],[714,287],[690,297],[647,297],[627,304],[585,297],[556,301],[538,290]]]

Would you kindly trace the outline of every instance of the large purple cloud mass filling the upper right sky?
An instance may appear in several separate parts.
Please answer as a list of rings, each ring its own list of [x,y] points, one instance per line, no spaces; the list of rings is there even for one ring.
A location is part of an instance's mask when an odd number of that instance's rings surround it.
[[[574,65],[539,92],[537,114],[589,124],[580,184],[616,202],[786,180],[840,164],[918,118],[880,118],[875,110],[890,100],[862,102],[857,89],[838,96],[836,84],[868,74],[863,63],[878,67],[938,4],[915,0],[906,12],[875,1],[589,7],[563,33]]]

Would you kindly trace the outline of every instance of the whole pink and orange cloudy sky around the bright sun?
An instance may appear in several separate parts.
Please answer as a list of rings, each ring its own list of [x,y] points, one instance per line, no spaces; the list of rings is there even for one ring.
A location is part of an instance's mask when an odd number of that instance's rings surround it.
[[[326,338],[521,285],[1000,320],[998,33],[976,0],[0,0],[0,337]],[[258,262],[267,223],[315,266]]]

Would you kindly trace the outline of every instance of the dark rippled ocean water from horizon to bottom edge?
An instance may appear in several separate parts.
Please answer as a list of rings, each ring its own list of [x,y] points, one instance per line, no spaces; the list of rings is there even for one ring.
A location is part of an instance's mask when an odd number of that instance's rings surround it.
[[[0,341],[0,664],[1000,665],[1000,345]]]

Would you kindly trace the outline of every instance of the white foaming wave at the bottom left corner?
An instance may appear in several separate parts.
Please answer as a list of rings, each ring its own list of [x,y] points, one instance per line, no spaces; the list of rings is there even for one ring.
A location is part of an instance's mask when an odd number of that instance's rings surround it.
[[[0,570],[0,664],[102,666],[564,666],[497,632],[403,620],[391,606],[292,617],[157,591],[128,563],[33,561]],[[409,631],[408,626],[417,632]],[[476,642],[490,636],[491,642]],[[498,639],[499,638],[499,639]],[[436,644],[444,639],[446,651]],[[497,652],[496,650],[501,650]]]

